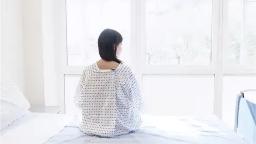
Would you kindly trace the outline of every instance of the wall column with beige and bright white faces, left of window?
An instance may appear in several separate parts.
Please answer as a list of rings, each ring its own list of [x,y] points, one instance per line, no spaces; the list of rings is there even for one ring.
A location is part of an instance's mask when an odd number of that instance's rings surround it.
[[[25,95],[31,105],[58,106],[52,0],[23,0]]]

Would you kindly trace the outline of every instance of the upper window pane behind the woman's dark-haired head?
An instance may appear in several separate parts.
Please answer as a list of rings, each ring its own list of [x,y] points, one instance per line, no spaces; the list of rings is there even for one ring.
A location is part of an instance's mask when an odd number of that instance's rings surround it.
[[[100,59],[98,37],[103,29],[123,36],[121,59],[130,63],[129,0],[67,0],[68,65],[90,65]]]

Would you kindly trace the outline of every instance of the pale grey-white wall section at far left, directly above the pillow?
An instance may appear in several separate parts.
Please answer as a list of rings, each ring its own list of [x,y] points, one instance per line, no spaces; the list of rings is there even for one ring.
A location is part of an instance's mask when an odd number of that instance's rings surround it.
[[[25,92],[22,49],[22,0],[2,0],[1,66],[11,75],[19,89]]]

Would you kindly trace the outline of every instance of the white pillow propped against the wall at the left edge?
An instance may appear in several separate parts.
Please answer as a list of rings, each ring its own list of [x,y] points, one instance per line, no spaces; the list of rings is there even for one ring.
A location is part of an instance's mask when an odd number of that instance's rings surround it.
[[[1,68],[1,130],[26,115],[30,104],[9,74]]]

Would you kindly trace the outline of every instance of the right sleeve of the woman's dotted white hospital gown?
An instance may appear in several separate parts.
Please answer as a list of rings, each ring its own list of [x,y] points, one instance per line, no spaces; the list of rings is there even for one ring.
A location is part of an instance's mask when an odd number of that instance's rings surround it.
[[[133,107],[135,108],[135,113],[142,114],[146,111],[145,103],[142,100],[142,95],[138,81],[135,79],[132,70],[129,69],[129,76],[127,79],[126,93],[129,94],[128,97],[132,99]]]

